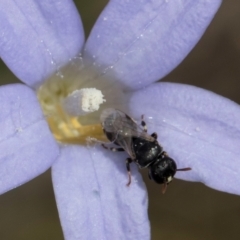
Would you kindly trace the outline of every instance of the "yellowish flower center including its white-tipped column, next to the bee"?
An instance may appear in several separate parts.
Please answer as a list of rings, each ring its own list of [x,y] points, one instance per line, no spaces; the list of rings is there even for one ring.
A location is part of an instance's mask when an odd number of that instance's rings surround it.
[[[94,65],[84,64],[78,57],[37,90],[50,130],[59,142],[86,144],[89,137],[107,141],[100,114],[104,108],[123,106],[122,88]]]

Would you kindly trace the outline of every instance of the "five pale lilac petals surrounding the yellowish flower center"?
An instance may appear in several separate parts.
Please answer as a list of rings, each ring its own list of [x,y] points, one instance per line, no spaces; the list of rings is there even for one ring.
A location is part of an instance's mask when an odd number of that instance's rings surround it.
[[[178,178],[239,194],[239,106],[196,87],[153,83],[191,51],[220,3],[111,0],[84,45],[72,1],[0,1],[0,55],[26,84],[0,88],[0,192],[52,166],[66,239],[150,238],[136,166],[127,188],[124,154],[60,147],[41,112],[35,87],[82,51],[125,85],[132,116],[152,117],[149,131],[158,133],[178,166],[192,167]]]

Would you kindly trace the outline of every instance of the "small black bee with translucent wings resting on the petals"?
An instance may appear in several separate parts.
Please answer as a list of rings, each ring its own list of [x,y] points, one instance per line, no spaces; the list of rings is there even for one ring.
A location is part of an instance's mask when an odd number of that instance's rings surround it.
[[[163,184],[162,192],[173,180],[176,171],[188,171],[191,168],[177,169],[175,161],[170,158],[157,141],[157,134],[149,135],[143,119],[141,127],[127,114],[108,108],[103,110],[100,117],[103,131],[108,140],[119,148],[108,148],[112,151],[126,151],[130,158],[126,159],[129,181],[131,184],[130,163],[135,162],[139,168],[148,168],[148,176],[158,184]]]

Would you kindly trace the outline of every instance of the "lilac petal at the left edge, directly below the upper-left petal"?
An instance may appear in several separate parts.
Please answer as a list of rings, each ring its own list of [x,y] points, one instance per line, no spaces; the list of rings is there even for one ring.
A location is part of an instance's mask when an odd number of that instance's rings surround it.
[[[0,103],[0,193],[4,193],[46,171],[59,147],[30,88],[2,86]]]

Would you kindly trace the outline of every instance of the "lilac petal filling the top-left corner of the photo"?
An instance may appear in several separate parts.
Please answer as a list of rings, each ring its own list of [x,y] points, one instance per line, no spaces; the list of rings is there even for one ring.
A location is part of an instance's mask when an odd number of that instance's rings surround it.
[[[79,53],[84,41],[71,0],[1,0],[0,36],[1,58],[30,86]]]

